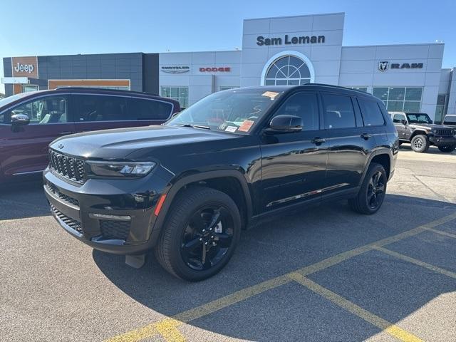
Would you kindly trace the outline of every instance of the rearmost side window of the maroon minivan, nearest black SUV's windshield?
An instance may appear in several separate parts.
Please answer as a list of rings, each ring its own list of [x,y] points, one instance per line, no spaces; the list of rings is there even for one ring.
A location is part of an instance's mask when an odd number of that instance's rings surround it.
[[[130,120],[166,120],[170,117],[172,104],[157,100],[130,98],[128,116]]]

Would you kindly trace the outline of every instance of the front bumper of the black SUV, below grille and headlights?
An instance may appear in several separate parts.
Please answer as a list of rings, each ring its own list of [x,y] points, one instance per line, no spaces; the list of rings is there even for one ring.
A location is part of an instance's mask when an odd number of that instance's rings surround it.
[[[151,249],[153,213],[167,181],[152,172],[132,180],[89,179],[83,185],[43,172],[51,213],[68,233],[103,252],[142,254]]]

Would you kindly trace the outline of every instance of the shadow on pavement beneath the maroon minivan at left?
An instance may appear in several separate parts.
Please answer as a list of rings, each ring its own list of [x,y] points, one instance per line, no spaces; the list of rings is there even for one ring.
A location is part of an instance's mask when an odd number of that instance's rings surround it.
[[[27,180],[0,185],[0,222],[50,215],[43,182]]]

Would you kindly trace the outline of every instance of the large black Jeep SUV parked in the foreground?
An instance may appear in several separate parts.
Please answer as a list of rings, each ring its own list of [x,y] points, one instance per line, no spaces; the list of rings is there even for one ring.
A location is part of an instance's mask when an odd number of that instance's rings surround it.
[[[67,232],[131,266],[155,249],[167,271],[197,281],[267,215],[341,198],[377,212],[398,134],[367,93],[265,86],[214,93],[164,125],[59,138],[49,153],[44,190]]]

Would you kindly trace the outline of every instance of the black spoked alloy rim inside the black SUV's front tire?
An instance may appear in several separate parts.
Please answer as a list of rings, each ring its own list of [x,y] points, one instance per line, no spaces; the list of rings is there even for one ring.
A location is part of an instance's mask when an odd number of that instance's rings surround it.
[[[228,209],[206,204],[192,215],[185,227],[180,253],[191,269],[210,269],[227,254],[233,236],[233,218]]]

